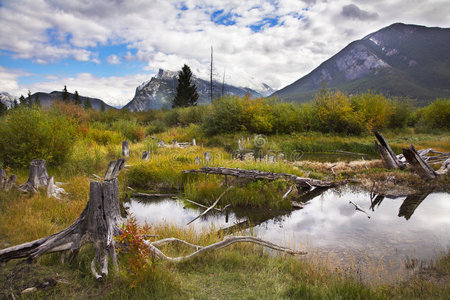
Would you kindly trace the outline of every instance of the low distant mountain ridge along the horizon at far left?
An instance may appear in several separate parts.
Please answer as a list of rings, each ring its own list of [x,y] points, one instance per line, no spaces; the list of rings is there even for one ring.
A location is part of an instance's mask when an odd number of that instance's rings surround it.
[[[39,102],[41,103],[41,106],[43,107],[49,107],[53,101],[59,99],[62,99],[62,92],[59,91],[53,91],[51,93],[43,93],[43,92],[37,92],[31,95],[31,100],[33,101],[33,103],[36,101],[36,97],[39,97]],[[71,101],[73,101],[73,97],[74,94],[69,93],[69,99]],[[14,100],[17,101],[17,103],[19,103],[19,98],[12,96],[6,92],[2,92],[0,93],[0,101],[2,101],[4,104],[6,104],[6,106],[8,108],[11,108],[11,106],[14,103]],[[84,105],[85,101],[89,101],[91,102],[92,108],[100,110],[102,107],[102,103],[105,106],[105,110],[108,109],[115,109],[114,107],[106,104],[105,102],[103,102],[100,99],[97,98],[90,98],[90,97],[84,97],[80,95],[80,100],[81,100],[81,104]]]

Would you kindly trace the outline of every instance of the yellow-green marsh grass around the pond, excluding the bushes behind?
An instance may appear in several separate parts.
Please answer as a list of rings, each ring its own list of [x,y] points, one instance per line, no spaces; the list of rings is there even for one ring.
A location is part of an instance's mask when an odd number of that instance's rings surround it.
[[[232,158],[230,152],[238,148],[238,138],[244,136],[247,149],[262,150],[264,154],[285,153],[286,161],[269,163],[267,161],[240,161]],[[127,159],[128,168],[119,177],[121,197],[126,187],[132,186],[145,191],[179,189],[185,196],[199,202],[211,204],[227,185],[234,186],[227,192],[221,205],[263,208],[286,208],[289,198],[280,201],[286,183],[248,183],[215,175],[182,174],[182,170],[196,169],[205,165],[195,164],[195,158],[203,159],[209,151],[211,166],[227,166],[242,169],[258,169],[277,173],[290,173],[320,179],[339,178],[358,179],[368,189],[373,180],[380,187],[391,191],[398,185],[408,189],[423,187],[426,183],[407,171],[389,171],[382,168],[379,160],[327,163],[316,161],[289,161],[290,155],[307,151],[346,150],[373,153],[373,137],[346,137],[339,135],[319,135],[317,133],[280,135],[262,137],[264,143],[255,148],[253,135],[244,133],[220,137],[205,137],[198,134],[194,125],[186,128],[172,128],[156,135],[170,144],[172,139],[180,142],[197,139],[197,147],[185,149],[158,148],[151,138],[131,143],[131,156]],[[247,143],[247,137],[249,142]],[[448,134],[395,134],[387,132],[385,137],[394,151],[413,143],[416,148],[433,147],[448,152]],[[261,138],[261,137],[260,137]],[[149,161],[142,161],[142,151],[150,151]],[[295,152],[297,151],[297,152]],[[120,143],[97,144],[92,140],[80,138],[68,160],[61,166],[49,167],[49,175],[56,181],[66,184],[69,196],[64,200],[48,198],[44,191],[34,195],[17,191],[0,191],[0,248],[31,241],[58,232],[69,226],[85,207],[89,194],[89,179],[92,174],[102,176],[109,160],[121,155]],[[295,155],[294,155],[295,156]],[[359,157],[358,157],[359,158]],[[334,167],[332,174],[330,167]],[[366,170],[365,166],[369,167]],[[15,173],[18,183],[28,177],[27,169],[7,169],[8,175]],[[386,181],[390,176],[396,182]],[[447,187],[448,176],[437,185]],[[160,224],[151,228],[160,238],[179,237],[193,243],[207,245],[221,237],[215,232],[196,232],[193,229]],[[168,247],[164,251],[170,255],[187,253],[183,247]],[[9,262],[0,269],[0,295],[16,296],[27,287],[37,286],[38,291],[24,295],[23,298],[105,298],[105,299],[403,299],[403,298],[445,298],[449,295],[450,255],[445,254],[429,270],[422,270],[410,280],[391,284],[371,285],[346,273],[340,268],[330,267],[322,260],[311,256],[305,259],[271,256],[260,247],[252,245],[233,245],[230,248],[210,253],[205,257],[188,263],[168,264],[158,262],[157,276],[148,277],[134,288],[129,287],[126,277],[111,274],[102,283],[96,282],[89,270],[94,256],[92,247],[85,247],[79,257],[70,263],[61,263],[60,254],[47,255],[35,265]],[[121,261],[121,264],[124,262]],[[376,271],[376,270],[372,270]],[[370,272],[370,270],[368,270]],[[56,281],[56,284],[54,282]],[[59,282],[58,282],[59,281]],[[61,282],[70,282],[70,284]],[[45,282],[48,287],[45,287]]]

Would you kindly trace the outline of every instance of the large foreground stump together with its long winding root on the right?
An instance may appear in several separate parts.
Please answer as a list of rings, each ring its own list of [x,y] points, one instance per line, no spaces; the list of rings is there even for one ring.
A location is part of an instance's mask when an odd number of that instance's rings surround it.
[[[92,242],[95,247],[95,258],[91,262],[91,272],[95,278],[103,279],[108,275],[109,258],[111,258],[115,270],[118,271],[119,267],[117,264],[114,236],[121,233],[119,226],[122,223],[122,218],[119,208],[119,184],[117,175],[124,165],[124,159],[110,162],[104,176],[104,181],[90,183],[89,201],[83,212],[72,225],[53,235],[0,250],[0,263],[19,258],[27,258],[30,261],[35,261],[44,254],[61,251],[70,251],[71,257],[73,258],[77,255],[81,246]],[[163,243],[171,243],[174,241],[179,240],[166,239],[156,242],[146,241],[145,243],[153,255],[172,262],[185,261],[206,252],[218,250],[239,242],[259,244],[292,255],[306,254],[303,251],[293,251],[251,236],[233,236],[205,247],[193,245],[197,251],[176,258],[165,255],[156,247]],[[182,242],[189,244],[184,241]],[[100,274],[97,272],[97,264],[101,267]]]

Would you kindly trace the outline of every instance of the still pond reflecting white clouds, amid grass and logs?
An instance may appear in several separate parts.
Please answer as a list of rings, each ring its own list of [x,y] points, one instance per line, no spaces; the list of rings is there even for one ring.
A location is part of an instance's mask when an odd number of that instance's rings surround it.
[[[355,204],[365,212],[356,210]],[[203,210],[174,199],[132,200],[128,208],[141,223],[179,226],[186,226]],[[309,257],[325,259],[332,267],[385,281],[449,249],[450,194],[425,192],[371,200],[369,193],[348,186],[324,191],[302,209],[210,212],[189,226],[251,230],[265,240],[307,250]]]

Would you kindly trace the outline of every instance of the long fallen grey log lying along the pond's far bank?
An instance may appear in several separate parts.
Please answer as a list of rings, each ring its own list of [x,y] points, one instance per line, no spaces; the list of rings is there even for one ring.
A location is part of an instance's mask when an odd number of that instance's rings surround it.
[[[299,177],[297,175],[285,174],[285,173],[272,173],[272,172],[262,172],[258,170],[243,170],[234,168],[223,168],[223,167],[202,167],[200,170],[184,170],[185,174],[195,174],[195,173],[206,173],[206,174],[218,174],[218,175],[230,175],[239,178],[246,178],[253,181],[256,180],[277,180],[285,179],[293,182],[295,185],[300,187],[333,187],[343,182],[337,181],[321,181],[317,179]]]

